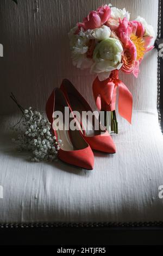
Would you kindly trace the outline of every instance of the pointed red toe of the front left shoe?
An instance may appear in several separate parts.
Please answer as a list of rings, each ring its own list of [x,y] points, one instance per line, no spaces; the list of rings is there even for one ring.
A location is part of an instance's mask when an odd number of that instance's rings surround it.
[[[72,164],[73,166],[88,170],[92,170],[94,167],[94,155],[90,147],[73,151],[64,151],[60,149],[58,157],[61,161]]]

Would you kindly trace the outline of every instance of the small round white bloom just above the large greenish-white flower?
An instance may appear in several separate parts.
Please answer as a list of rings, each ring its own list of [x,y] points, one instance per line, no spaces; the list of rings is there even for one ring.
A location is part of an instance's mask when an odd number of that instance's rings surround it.
[[[96,28],[93,30],[92,36],[97,40],[104,40],[109,38],[111,35],[111,30],[109,27],[103,25],[101,28]]]

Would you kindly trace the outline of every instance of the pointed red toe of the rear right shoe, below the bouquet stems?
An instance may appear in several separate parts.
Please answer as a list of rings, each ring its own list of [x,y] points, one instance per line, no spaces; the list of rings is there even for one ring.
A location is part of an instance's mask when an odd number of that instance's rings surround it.
[[[109,132],[105,132],[102,135],[85,137],[87,143],[89,143],[91,149],[102,151],[105,153],[116,153],[116,147]]]

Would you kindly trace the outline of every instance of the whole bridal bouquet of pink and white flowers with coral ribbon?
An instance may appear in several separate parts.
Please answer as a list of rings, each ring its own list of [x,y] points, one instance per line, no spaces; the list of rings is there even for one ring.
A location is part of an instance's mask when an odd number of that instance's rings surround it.
[[[130,14],[103,5],[91,11],[83,22],[77,23],[68,34],[73,65],[90,69],[97,77],[93,81],[93,95],[100,111],[110,111],[111,130],[117,133],[115,103],[119,92],[118,112],[131,123],[133,97],[118,78],[121,70],[139,75],[145,53],[153,49],[154,29],[138,16],[130,21]]]

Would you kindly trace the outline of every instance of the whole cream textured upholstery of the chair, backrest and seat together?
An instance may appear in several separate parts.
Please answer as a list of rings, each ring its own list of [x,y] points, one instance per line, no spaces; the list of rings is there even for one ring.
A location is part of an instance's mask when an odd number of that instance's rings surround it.
[[[131,126],[118,116],[119,134],[113,136],[116,154],[96,152],[92,171],[60,161],[53,164],[27,162],[26,154],[17,153],[11,142],[13,135],[9,126],[16,123],[17,118],[4,115],[16,109],[9,101],[9,92],[12,90],[24,106],[44,109],[53,87],[59,86],[62,78],[69,78],[95,106],[91,89],[93,77],[89,71],[72,66],[65,35],[76,21],[82,20],[103,1],[40,1],[40,16],[34,14],[34,21],[30,13],[34,1],[20,2],[20,9],[15,13],[13,10],[10,15],[7,11],[2,13],[4,20],[9,16],[18,22],[21,17],[23,22],[2,36],[6,43],[10,38],[12,46],[1,68],[6,86],[1,87],[0,185],[3,186],[3,199],[0,199],[0,222],[163,221],[163,199],[158,196],[158,188],[163,185],[163,137],[156,111],[156,50],[143,60],[137,80],[132,75],[121,74],[122,81],[133,94],[134,111]],[[131,19],[137,15],[145,17],[156,32],[158,0],[110,2],[119,8],[126,7]],[[28,17],[24,15],[27,9]],[[5,31],[2,27],[0,33],[3,29]],[[20,51],[22,45],[24,51]]]

